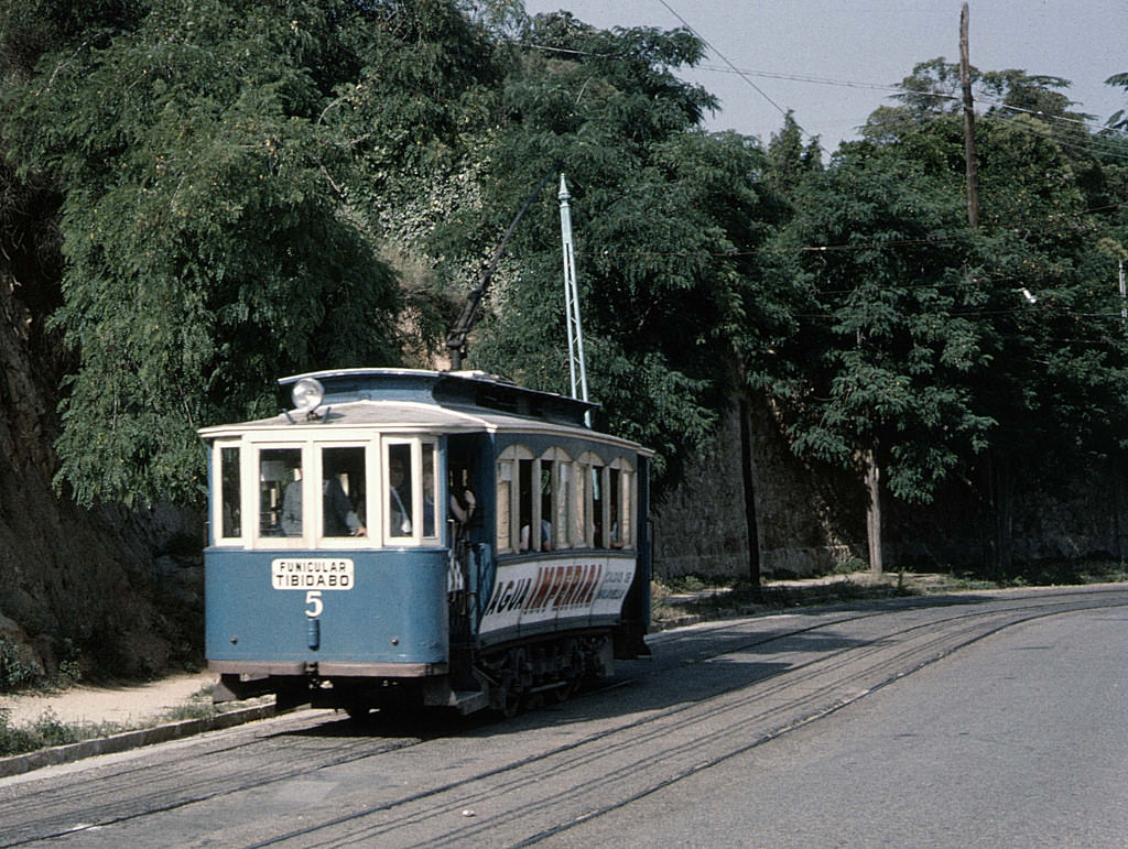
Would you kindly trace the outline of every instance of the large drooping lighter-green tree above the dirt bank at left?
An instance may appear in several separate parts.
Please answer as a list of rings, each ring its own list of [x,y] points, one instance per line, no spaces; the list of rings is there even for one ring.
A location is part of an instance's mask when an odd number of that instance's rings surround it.
[[[451,3],[114,8],[60,29],[5,125],[18,173],[62,197],[55,324],[79,365],[59,481],[83,504],[197,502],[196,426],[272,410],[280,374],[398,361],[378,215],[347,189],[361,156],[387,169],[456,134],[446,107],[484,63]]]

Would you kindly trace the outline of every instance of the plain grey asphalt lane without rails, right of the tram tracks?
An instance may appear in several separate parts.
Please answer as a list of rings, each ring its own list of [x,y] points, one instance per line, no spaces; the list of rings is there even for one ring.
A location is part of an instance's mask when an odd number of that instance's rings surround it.
[[[1128,846],[1128,610],[1007,628],[547,844],[611,842]]]

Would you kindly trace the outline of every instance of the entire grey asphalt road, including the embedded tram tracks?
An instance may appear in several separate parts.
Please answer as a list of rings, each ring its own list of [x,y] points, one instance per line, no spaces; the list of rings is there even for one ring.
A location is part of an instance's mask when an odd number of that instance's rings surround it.
[[[659,635],[500,723],[306,713],[0,780],[0,846],[1125,846],[1128,589]]]

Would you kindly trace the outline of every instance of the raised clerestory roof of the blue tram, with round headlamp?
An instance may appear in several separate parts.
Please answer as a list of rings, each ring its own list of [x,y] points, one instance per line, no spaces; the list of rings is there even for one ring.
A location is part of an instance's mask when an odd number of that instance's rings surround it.
[[[316,379],[325,390],[311,413],[293,409],[254,422],[217,425],[200,431],[212,439],[235,432],[276,427],[377,426],[385,431],[570,433],[619,444],[634,443],[591,431],[584,413],[596,404],[553,392],[526,389],[485,372],[438,372],[416,369],[341,369],[294,374],[279,384]],[[644,449],[640,449],[644,453]]]

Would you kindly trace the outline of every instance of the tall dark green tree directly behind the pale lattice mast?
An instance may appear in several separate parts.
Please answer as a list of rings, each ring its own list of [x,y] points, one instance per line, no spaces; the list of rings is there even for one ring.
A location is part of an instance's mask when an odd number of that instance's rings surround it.
[[[703,45],[684,30],[603,32],[538,16],[505,81],[504,121],[487,139],[481,205],[441,245],[487,255],[513,212],[561,168],[572,191],[588,375],[601,426],[658,451],[676,480],[733,386],[731,328],[765,237],[752,140],[698,129],[714,100],[673,74]],[[521,222],[472,346],[477,368],[567,391],[559,225],[545,192]],[[475,245],[477,247],[475,247]],[[440,253],[435,248],[434,253]],[[452,284],[450,284],[452,288]]]

